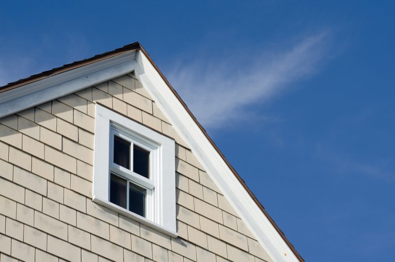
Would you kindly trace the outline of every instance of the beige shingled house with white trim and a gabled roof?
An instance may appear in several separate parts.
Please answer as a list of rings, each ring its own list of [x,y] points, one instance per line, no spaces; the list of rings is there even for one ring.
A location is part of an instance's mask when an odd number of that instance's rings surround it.
[[[139,43],[0,88],[0,260],[303,261]]]

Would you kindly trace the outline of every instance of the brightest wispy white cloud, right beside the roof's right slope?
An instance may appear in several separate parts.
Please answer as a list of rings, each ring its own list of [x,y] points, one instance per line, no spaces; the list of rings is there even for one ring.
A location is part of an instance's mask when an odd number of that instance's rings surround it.
[[[205,128],[248,118],[264,103],[316,71],[327,51],[327,33],[303,38],[280,51],[235,49],[225,60],[197,59],[176,67],[169,80]]]

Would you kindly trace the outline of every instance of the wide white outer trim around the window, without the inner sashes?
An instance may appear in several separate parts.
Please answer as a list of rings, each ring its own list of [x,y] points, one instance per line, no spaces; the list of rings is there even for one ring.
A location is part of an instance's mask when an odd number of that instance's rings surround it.
[[[143,126],[103,105],[96,103],[95,107],[92,201],[116,211],[125,217],[151,226],[167,235],[177,237],[174,139]],[[134,214],[109,201],[110,162],[113,160],[110,153],[110,137],[113,126],[127,131],[132,136],[134,135],[133,139],[135,137],[142,137],[144,140],[156,144],[159,148],[155,152],[158,154],[158,161],[156,161],[158,163],[156,169],[158,170],[155,172],[157,175],[155,178],[155,211],[153,212],[155,215],[153,220]],[[145,177],[141,176],[141,178]]]

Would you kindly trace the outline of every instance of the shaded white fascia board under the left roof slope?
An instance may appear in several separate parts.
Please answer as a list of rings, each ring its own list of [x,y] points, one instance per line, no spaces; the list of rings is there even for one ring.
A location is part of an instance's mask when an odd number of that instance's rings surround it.
[[[0,93],[0,118],[133,71],[131,50]]]

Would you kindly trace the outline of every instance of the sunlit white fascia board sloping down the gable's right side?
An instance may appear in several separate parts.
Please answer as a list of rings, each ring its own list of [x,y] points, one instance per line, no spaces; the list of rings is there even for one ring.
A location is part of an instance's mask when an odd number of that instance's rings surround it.
[[[207,174],[220,188],[268,255],[275,262],[298,262],[276,228],[237,180],[144,53],[138,51],[135,59],[138,63],[135,68],[136,77],[154,98],[174,129],[189,144]]]

